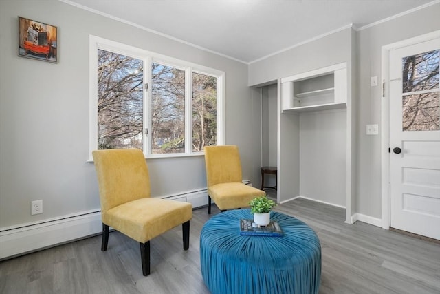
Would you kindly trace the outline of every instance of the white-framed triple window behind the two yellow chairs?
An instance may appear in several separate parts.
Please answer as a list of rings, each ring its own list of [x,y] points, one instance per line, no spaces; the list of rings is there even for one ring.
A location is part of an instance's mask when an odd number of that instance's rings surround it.
[[[224,142],[224,72],[90,37],[90,152],[200,154]]]

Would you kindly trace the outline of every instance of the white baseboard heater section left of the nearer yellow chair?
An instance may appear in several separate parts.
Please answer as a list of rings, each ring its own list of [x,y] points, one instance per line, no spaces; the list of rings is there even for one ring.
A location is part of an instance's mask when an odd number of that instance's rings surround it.
[[[0,260],[72,242],[101,231],[100,211],[85,211],[41,223],[1,228]]]

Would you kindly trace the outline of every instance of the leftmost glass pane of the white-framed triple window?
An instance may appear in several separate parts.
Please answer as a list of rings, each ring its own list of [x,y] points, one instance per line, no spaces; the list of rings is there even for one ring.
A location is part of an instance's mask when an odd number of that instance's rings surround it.
[[[140,148],[143,61],[98,50],[98,149]]]

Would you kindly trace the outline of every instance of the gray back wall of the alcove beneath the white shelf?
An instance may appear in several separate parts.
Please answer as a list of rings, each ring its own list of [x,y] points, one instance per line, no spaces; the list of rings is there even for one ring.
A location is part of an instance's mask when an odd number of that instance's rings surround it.
[[[345,207],[347,109],[300,114],[300,196]]]

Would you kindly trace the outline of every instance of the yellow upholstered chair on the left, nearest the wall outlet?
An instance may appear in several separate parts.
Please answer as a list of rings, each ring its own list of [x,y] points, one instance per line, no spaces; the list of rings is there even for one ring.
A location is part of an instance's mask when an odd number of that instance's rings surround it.
[[[190,244],[192,205],[151,198],[150,178],[140,149],[93,151],[102,213],[101,251],[109,227],[140,242],[143,275],[150,274],[150,240],[182,225],[184,250]]]

